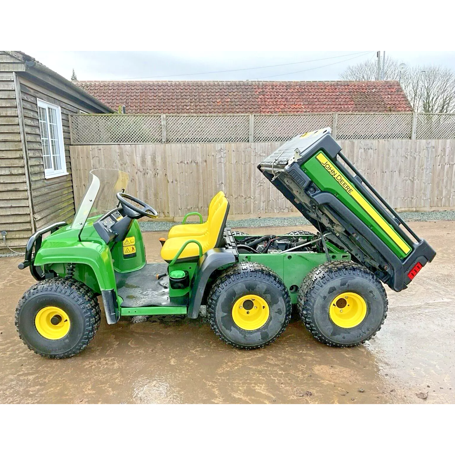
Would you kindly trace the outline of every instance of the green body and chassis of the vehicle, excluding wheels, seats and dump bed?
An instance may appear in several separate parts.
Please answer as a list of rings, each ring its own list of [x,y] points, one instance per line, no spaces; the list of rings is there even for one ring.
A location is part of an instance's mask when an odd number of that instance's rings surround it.
[[[197,263],[149,264],[152,273],[147,271],[145,276],[151,277],[151,280],[156,279],[157,274],[166,273],[167,269],[169,273],[186,271],[189,278],[188,285],[181,289],[169,288],[170,306],[157,305],[160,300],[151,300],[147,305],[140,307],[122,307],[124,297],[133,291],[131,288],[124,288],[126,293],[122,297],[117,288],[118,283],[122,281],[123,276],[144,267],[147,268],[142,233],[139,223],[134,220],[126,238],[135,239],[136,256],[125,257],[122,253],[122,242],[106,244],[96,233],[93,222],[100,217],[101,215],[88,218],[81,232],[81,241],[78,239],[79,229],[66,223],[57,223],[60,226],[51,225],[40,229],[30,238],[30,248],[27,248],[26,254],[26,258],[30,257],[30,259],[21,263],[20,268],[29,266],[30,272],[37,280],[56,275],[63,278],[68,276],[70,270],[72,278],[85,283],[93,291],[101,294],[108,324],[115,324],[121,316],[134,315],[187,314],[189,318],[195,319],[199,314],[205,286],[212,273],[238,262],[261,263],[271,268],[283,279],[290,291],[292,303],[296,303],[297,293],[294,289],[298,288],[303,277],[311,269],[327,261],[324,252],[311,254],[288,252],[285,255],[245,254],[238,253],[235,248],[227,247],[201,255]],[[51,231],[54,232],[41,240],[44,234]],[[235,244],[236,239],[230,233],[230,229],[226,229],[225,235],[230,238],[231,245]],[[243,237],[237,236],[237,241],[241,242]],[[302,237],[311,238],[312,236],[306,234]],[[37,243],[40,246],[32,257],[30,253]],[[330,242],[327,242],[327,248],[330,258],[334,261],[349,261],[351,258],[349,253]]]

